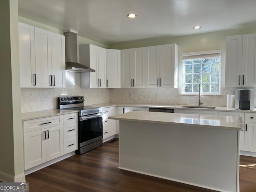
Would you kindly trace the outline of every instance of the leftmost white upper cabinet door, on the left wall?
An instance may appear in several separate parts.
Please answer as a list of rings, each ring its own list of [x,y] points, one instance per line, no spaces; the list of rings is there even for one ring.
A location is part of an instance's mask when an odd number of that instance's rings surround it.
[[[36,87],[34,27],[19,22],[20,87]]]

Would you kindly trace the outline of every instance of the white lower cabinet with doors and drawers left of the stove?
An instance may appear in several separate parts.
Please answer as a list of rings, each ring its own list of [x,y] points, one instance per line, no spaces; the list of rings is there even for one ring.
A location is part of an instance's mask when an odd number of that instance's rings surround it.
[[[23,121],[24,170],[78,148],[77,113]]]

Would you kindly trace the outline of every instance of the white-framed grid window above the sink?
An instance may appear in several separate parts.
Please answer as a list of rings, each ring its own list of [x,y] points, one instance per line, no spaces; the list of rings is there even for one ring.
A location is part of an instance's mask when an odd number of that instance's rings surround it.
[[[220,94],[220,50],[182,54],[182,94]]]

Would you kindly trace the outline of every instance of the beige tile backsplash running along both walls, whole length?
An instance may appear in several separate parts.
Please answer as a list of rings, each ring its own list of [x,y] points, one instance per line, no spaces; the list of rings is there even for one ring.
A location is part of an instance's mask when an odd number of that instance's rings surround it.
[[[201,101],[205,106],[226,106],[226,95],[234,94],[236,89],[238,88],[222,88],[221,95],[202,95]],[[178,89],[174,88],[84,89],[80,88],[79,73],[66,72],[66,88],[21,88],[21,111],[25,113],[57,109],[57,98],[62,94],[84,96],[85,105],[107,102],[198,105],[198,95],[179,95]]]

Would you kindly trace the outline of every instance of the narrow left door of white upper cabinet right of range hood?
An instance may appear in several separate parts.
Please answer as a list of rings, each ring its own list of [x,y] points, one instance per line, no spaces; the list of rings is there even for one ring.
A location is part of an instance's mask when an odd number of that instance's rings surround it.
[[[90,52],[90,68],[94,69],[96,72],[90,72],[90,88],[98,88],[98,47],[95,45],[89,45]]]

